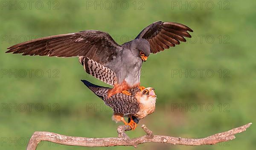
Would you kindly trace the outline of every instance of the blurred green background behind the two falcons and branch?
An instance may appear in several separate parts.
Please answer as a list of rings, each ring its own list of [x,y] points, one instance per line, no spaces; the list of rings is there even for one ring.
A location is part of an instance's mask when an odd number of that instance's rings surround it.
[[[143,63],[141,84],[156,89],[157,105],[155,113],[139,125],[146,124],[158,135],[198,138],[254,122],[255,5],[254,0],[2,0],[0,149],[25,150],[35,131],[116,137],[119,125],[111,120],[112,111],[81,83],[80,79],[86,79],[106,86],[87,75],[78,58],[6,54],[7,47],[31,38],[87,29],[108,32],[122,44],[158,20],[183,23],[194,32],[188,42],[150,55]],[[31,76],[28,69],[32,69]],[[138,149],[254,149],[255,134],[252,125],[236,139],[213,146],[147,143]],[[131,138],[142,135],[140,127],[128,132]],[[49,142],[38,147],[85,149],[134,147],[70,147]]]

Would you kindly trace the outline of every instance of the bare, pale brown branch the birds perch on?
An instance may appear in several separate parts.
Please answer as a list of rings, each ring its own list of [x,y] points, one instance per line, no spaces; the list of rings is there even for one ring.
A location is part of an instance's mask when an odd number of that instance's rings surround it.
[[[212,136],[205,138],[180,138],[172,136],[157,136],[153,135],[152,131],[149,130],[144,124],[141,126],[145,131],[146,135],[138,138],[130,139],[125,131],[131,130],[128,125],[119,126],[117,128],[117,138],[85,138],[85,137],[73,137],[64,136],[57,133],[50,132],[35,132],[29,140],[29,144],[26,150],[36,150],[38,144],[41,141],[50,141],[57,144],[83,146],[83,147],[109,147],[109,146],[134,146],[138,144],[157,142],[157,143],[168,143],[168,144],[180,144],[180,145],[212,145],[219,142],[230,141],[235,137],[235,134],[244,132],[252,123],[245,124],[241,127],[236,127],[232,130],[217,133]]]

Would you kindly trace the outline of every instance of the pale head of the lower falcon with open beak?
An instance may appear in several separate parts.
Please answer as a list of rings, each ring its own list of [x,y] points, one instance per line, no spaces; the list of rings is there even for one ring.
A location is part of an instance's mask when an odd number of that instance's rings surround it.
[[[147,87],[143,91],[137,93],[137,98],[140,100],[141,103],[156,101],[157,95],[154,92],[154,88]]]

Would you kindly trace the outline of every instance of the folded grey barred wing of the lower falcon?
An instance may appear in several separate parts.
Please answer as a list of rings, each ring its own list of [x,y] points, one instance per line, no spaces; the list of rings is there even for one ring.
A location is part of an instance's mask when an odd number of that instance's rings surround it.
[[[105,104],[113,109],[115,113],[134,114],[140,111],[139,103],[135,96],[117,93],[111,96]]]

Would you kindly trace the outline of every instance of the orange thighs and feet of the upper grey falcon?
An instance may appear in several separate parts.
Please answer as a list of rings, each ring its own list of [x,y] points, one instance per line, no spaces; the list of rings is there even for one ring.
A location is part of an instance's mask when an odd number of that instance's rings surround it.
[[[135,85],[131,86],[131,87],[127,84],[126,81],[123,81],[121,84],[115,84],[113,89],[111,89],[108,92],[108,98],[110,98],[112,95],[115,95],[116,93],[122,93],[123,90],[129,90],[129,89],[133,89],[135,87],[140,88],[140,82],[138,84],[135,84]]]

